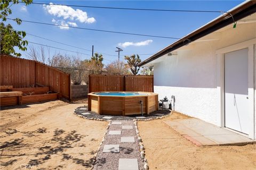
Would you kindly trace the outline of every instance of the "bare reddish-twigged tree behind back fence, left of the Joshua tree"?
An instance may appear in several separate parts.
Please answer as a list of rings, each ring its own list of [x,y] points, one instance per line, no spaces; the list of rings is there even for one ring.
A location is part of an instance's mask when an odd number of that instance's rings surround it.
[[[111,62],[106,66],[107,74],[110,75],[127,75],[131,74],[130,67],[128,64],[125,64],[124,62],[114,61]]]

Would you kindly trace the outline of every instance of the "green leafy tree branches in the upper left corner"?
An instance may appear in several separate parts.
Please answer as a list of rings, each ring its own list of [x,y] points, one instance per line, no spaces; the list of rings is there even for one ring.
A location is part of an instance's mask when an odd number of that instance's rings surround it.
[[[25,5],[29,5],[33,2],[33,0],[21,0]],[[11,3],[11,4],[10,4]],[[7,20],[7,16],[12,14],[11,6],[13,4],[18,4],[18,0],[1,0],[0,3],[0,19],[3,21]],[[17,22],[18,25],[21,24],[21,20],[19,18],[13,19],[13,21]],[[16,31],[12,28],[11,24],[5,25],[3,22],[0,23],[1,27],[1,50],[0,54],[13,54],[15,56],[21,56],[20,53],[16,53],[14,47],[18,47],[20,50],[27,50],[26,45],[28,45],[27,40],[22,40],[26,36],[25,31]]]

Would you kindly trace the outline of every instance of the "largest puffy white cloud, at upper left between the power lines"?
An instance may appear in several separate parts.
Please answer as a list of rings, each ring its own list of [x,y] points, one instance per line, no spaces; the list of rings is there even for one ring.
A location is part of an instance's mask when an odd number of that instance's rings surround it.
[[[50,3],[53,4],[53,3]],[[43,8],[51,15],[58,16],[63,19],[77,20],[81,23],[93,23],[96,20],[92,17],[89,18],[85,11],[63,5],[43,5]]]

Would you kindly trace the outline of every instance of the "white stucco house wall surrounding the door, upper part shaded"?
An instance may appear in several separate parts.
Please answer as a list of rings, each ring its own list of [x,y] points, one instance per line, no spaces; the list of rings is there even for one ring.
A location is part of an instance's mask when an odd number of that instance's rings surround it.
[[[201,38],[214,40],[190,43],[181,47],[177,55],[162,56],[161,62],[154,63],[154,91],[159,94],[159,99],[174,95],[176,111],[219,126],[216,51],[256,38],[255,30],[255,22],[238,23],[235,29],[228,25]],[[254,84],[255,75],[254,66]]]

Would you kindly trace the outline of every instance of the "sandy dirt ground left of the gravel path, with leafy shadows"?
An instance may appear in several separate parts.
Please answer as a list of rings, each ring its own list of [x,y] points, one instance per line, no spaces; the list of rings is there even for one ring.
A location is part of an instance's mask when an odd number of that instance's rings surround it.
[[[90,169],[108,123],[75,116],[85,103],[1,108],[1,169]]]

